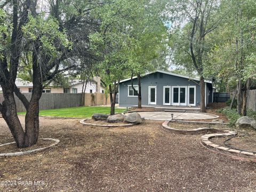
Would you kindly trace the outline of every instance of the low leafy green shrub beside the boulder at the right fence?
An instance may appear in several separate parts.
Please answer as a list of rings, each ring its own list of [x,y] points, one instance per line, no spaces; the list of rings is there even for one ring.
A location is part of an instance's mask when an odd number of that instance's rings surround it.
[[[230,107],[225,107],[225,108],[218,109],[217,112],[227,116],[229,121],[228,123],[230,126],[235,126],[237,119],[241,117],[241,115],[238,115],[237,110],[235,108],[230,109]],[[246,116],[256,119],[256,111],[247,110]]]

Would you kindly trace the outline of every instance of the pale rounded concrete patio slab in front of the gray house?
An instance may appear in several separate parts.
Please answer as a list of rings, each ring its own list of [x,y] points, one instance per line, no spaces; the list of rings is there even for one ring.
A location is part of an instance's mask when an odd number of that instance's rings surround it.
[[[214,119],[218,118],[217,115],[207,113],[177,113],[177,112],[164,112],[164,111],[148,111],[138,112],[141,117],[150,120],[170,121],[172,119]]]

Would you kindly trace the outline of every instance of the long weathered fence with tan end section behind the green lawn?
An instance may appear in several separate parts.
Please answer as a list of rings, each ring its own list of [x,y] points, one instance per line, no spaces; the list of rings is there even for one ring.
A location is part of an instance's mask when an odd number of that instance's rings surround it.
[[[95,96],[95,103],[92,101],[91,95]],[[30,100],[31,93],[23,93],[25,97]],[[84,104],[82,103],[82,93],[43,93],[39,100],[39,109],[58,109],[69,108],[79,106],[93,106],[93,105],[105,105],[106,99],[104,93],[85,93]],[[0,93],[0,103],[4,100],[3,93]],[[17,111],[26,111],[22,102],[15,96],[15,102]],[[107,105],[110,104],[109,97],[107,99]]]

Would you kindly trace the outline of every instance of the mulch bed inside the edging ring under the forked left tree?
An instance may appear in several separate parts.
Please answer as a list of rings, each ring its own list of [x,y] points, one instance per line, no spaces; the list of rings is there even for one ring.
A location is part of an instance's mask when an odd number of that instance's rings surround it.
[[[15,153],[15,152],[20,152],[20,151],[33,150],[33,149],[38,149],[38,148],[43,148],[43,147],[50,146],[52,143],[54,143],[54,141],[38,140],[36,145],[33,145],[31,147],[26,147],[26,148],[17,148],[16,143],[12,143],[10,145],[0,146],[0,153]]]

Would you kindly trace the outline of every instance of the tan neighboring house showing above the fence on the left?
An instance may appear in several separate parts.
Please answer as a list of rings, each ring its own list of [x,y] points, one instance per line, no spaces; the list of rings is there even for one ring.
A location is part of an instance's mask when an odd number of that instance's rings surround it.
[[[15,81],[18,89],[21,93],[31,93],[33,90],[33,83],[24,81],[21,78],[17,78]],[[56,87],[49,85],[43,89],[43,93],[82,93],[83,81],[74,79],[71,81],[69,87]],[[0,92],[2,87],[0,86]],[[101,85],[100,77],[93,77],[92,81],[87,82],[85,93],[104,93],[103,86]]]

